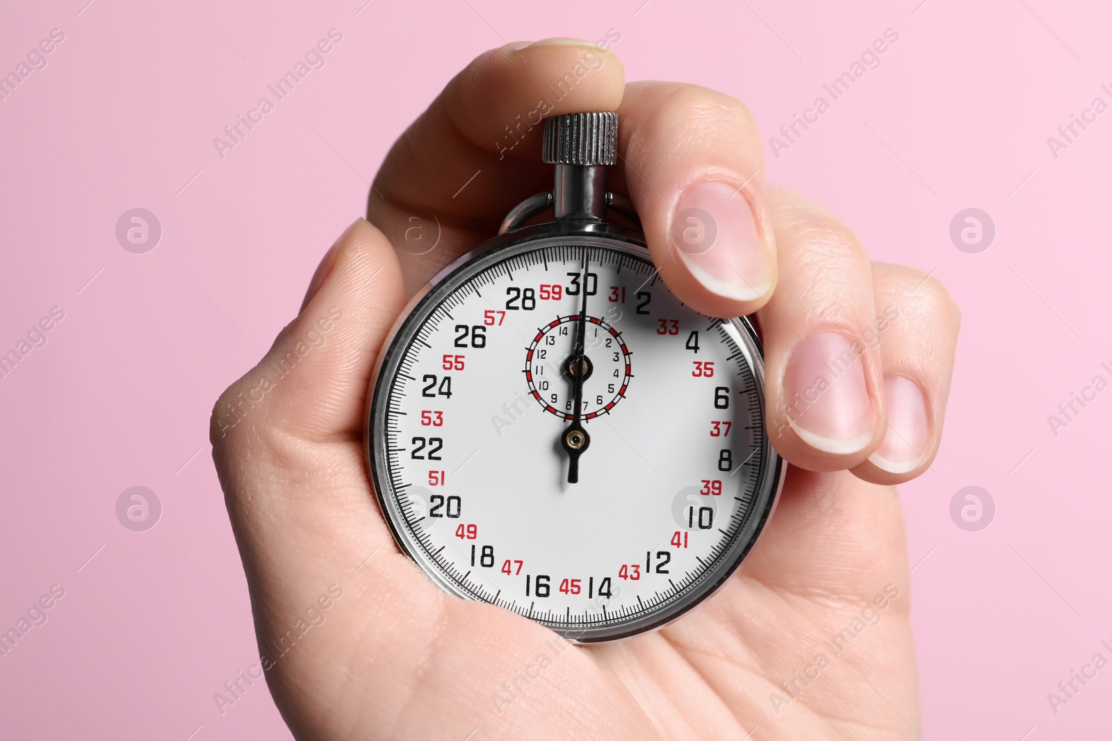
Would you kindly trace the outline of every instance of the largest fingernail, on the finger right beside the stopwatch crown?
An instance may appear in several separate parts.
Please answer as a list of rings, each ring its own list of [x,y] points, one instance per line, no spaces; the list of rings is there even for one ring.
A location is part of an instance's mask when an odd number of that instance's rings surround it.
[[[753,301],[772,287],[772,266],[749,202],[736,186],[701,182],[679,197],[672,241],[692,274],[716,296]]]

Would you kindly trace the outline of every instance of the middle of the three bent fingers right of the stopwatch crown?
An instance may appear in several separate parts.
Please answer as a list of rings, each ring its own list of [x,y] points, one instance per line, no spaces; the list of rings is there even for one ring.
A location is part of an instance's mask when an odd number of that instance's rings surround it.
[[[759,312],[768,433],[791,463],[852,468],[884,438],[884,385],[872,267],[845,224],[784,188],[768,189],[780,282]]]

